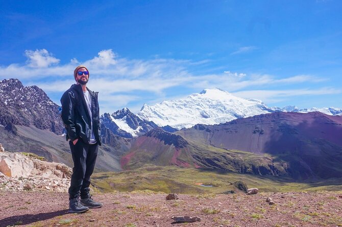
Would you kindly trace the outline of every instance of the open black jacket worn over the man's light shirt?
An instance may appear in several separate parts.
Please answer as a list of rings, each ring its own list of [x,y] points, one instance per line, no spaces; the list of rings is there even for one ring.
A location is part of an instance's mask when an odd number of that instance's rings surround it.
[[[100,139],[100,108],[97,101],[99,92],[92,92],[87,88],[91,97],[92,106],[92,121],[95,139],[101,145]],[[87,104],[83,95],[81,84],[72,84],[72,86],[64,92],[62,98],[62,121],[66,129],[66,140],[81,137],[84,143],[89,143],[90,131],[90,116]]]

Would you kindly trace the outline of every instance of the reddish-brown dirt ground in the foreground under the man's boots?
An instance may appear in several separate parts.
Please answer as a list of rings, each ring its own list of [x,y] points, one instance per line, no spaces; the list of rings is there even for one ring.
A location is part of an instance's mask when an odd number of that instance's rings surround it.
[[[93,198],[102,208],[68,214],[65,192],[0,191],[0,226],[342,226],[342,194],[336,192],[178,196],[166,201],[166,194],[148,191],[100,193]],[[201,221],[176,223],[173,216]]]

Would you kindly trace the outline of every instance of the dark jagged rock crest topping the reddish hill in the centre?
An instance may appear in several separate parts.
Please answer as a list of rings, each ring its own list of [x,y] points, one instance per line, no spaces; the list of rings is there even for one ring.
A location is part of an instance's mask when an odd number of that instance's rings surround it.
[[[152,129],[145,136],[157,138],[163,141],[165,145],[174,145],[176,148],[185,148],[188,145],[188,142],[182,136],[165,132],[161,128]]]

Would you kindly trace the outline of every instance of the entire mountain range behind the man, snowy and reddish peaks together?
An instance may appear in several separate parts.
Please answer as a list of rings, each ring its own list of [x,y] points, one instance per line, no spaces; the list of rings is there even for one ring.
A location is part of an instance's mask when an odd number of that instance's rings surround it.
[[[0,88],[5,149],[72,166],[68,144],[60,136],[58,105],[38,87],[23,87],[17,79],[0,81]],[[267,107],[207,89],[186,99],[144,105],[137,115],[128,108],[104,113],[96,171],[151,163],[296,180],[342,177],[341,109],[323,110],[330,114]]]

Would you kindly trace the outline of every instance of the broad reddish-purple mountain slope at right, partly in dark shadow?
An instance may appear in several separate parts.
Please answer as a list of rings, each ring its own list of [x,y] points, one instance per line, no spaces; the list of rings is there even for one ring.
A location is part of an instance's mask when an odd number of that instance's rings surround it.
[[[342,117],[321,112],[275,112],[176,132],[225,149],[272,154],[294,178],[342,177]]]

